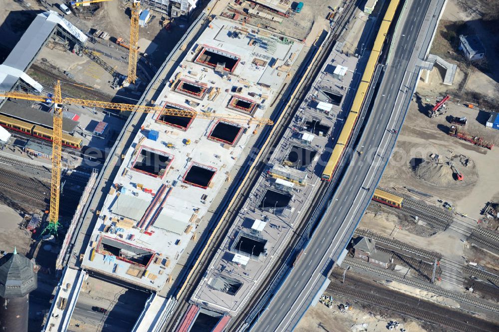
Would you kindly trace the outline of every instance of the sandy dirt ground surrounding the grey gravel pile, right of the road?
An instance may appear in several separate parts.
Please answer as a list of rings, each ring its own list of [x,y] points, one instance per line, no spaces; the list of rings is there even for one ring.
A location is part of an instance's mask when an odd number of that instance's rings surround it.
[[[448,112],[430,119],[426,112],[434,99],[422,98],[410,105],[405,124],[400,132],[397,145],[388,167],[380,182],[381,187],[412,187],[432,194],[437,199],[453,203],[458,212],[480,219],[485,203],[499,195],[499,179],[495,174],[499,163],[497,147],[492,150],[478,147],[446,134],[450,123],[449,115],[466,116],[468,124],[463,130],[486,140],[499,142],[499,131],[486,128],[483,123],[488,114],[455,103],[448,103]],[[479,121],[477,121],[477,119]],[[417,125],[414,125],[417,123]],[[463,181],[451,180],[447,186],[437,186],[418,178],[414,172],[414,162],[429,154],[438,154],[443,162],[452,156],[463,155],[470,159],[471,166],[456,163],[463,173]],[[473,166],[474,165],[474,166]]]

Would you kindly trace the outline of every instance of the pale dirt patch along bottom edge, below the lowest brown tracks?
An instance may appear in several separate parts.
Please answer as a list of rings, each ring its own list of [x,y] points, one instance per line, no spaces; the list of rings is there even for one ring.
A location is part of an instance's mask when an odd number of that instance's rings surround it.
[[[390,320],[370,315],[368,312],[353,308],[346,313],[340,312],[336,306],[329,309],[321,303],[310,307],[296,326],[296,332],[384,332]],[[362,327],[363,324],[367,326]],[[415,322],[403,325],[409,332],[426,332]]]

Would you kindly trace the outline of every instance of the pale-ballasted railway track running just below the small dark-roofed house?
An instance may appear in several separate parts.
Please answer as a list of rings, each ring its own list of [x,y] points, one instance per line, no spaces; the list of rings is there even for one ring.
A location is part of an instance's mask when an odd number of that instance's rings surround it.
[[[466,303],[466,304],[475,306],[475,307],[480,308],[480,309],[484,309],[484,310],[488,310],[488,311],[491,311],[491,312],[499,313],[499,307],[498,307],[498,305],[494,305],[492,303],[487,303],[485,301],[480,301],[480,300],[477,300],[477,299],[473,299],[473,298],[469,298],[469,297],[462,296],[462,295],[459,295],[459,294],[455,294],[455,293],[443,290],[441,288],[432,286],[432,285],[427,284],[427,283],[422,283],[422,282],[419,282],[419,281],[406,279],[406,278],[404,278],[404,277],[402,277],[400,275],[393,274],[393,273],[391,273],[391,272],[389,272],[387,270],[382,270],[382,269],[378,269],[378,268],[375,268],[375,267],[367,265],[367,264],[362,264],[362,263],[360,263],[360,262],[358,262],[358,261],[356,261],[354,259],[351,259],[351,258],[345,258],[343,264],[349,265],[349,266],[351,266],[353,268],[357,268],[357,269],[361,269],[361,270],[364,270],[364,271],[372,272],[372,273],[375,273],[377,275],[380,275],[380,276],[383,276],[383,277],[387,277],[387,278],[390,278],[390,279],[393,279],[393,280],[397,280],[397,281],[399,281],[401,283],[404,283],[406,285],[414,286],[414,287],[417,287],[419,289],[423,289],[423,290],[426,290],[426,291],[429,291],[429,292],[433,292],[435,294],[442,295],[442,296],[454,299],[454,300],[456,300],[458,302],[462,302],[462,303]]]

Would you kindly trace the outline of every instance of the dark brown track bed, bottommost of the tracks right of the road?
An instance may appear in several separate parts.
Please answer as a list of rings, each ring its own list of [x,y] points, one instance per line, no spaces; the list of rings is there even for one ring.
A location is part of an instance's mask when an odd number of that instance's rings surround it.
[[[457,310],[451,310],[433,303],[407,297],[405,294],[360,282],[358,279],[355,279],[354,284],[352,284],[352,281],[348,281],[348,278],[345,284],[339,284],[334,280],[332,282],[334,284],[332,283],[328,287],[327,292],[349,301],[352,299],[369,307],[374,306],[403,317],[443,327],[447,331],[497,331],[497,326],[493,323]]]

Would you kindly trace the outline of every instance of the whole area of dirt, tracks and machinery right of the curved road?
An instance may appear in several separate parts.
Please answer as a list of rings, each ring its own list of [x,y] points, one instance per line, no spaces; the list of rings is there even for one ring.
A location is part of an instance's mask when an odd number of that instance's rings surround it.
[[[487,59],[470,63],[442,38],[450,18],[490,33],[480,13],[495,4],[473,2],[448,1],[430,53],[457,64],[454,82],[446,82],[450,65],[423,71],[379,183],[401,208],[372,201],[347,257],[295,331],[497,330],[497,50],[494,37],[482,38]]]

